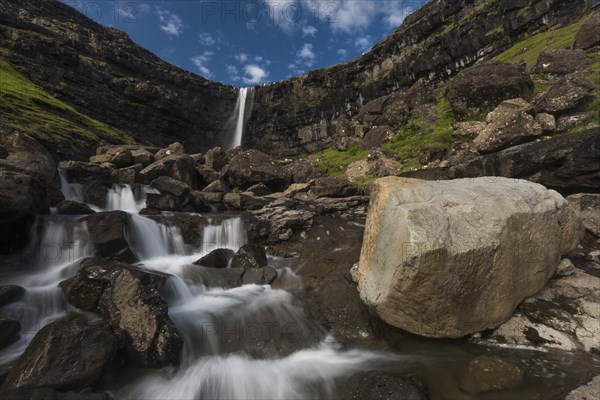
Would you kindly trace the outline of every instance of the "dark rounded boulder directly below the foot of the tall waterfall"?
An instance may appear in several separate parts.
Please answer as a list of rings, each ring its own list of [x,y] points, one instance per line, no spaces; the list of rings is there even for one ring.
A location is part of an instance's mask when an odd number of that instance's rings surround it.
[[[290,173],[271,156],[258,150],[246,150],[233,157],[223,170],[225,181],[231,187],[247,189],[264,183],[278,192],[291,181]]]

